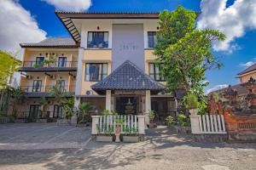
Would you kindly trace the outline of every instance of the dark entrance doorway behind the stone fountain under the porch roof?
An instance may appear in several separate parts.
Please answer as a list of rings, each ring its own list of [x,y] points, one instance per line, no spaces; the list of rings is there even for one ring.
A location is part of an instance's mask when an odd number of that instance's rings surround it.
[[[120,115],[137,115],[136,97],[116,97],[116,111]]]

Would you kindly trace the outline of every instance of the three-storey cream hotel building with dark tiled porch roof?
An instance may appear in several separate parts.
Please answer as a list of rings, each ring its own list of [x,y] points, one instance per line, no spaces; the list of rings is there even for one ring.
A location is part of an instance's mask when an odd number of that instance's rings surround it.
[[[166,80],[154,65],[154,44],[159,30],[158,13],[75,13],[55,14],[72,38],[47,38],[21,43],[23,75],[20,87],[28,97],[20,111],[35,120],[41,96],[48,99],[48,117],[59,118],[61,105],[50,97],[56,83],[75,97],[119,114],[157,113],[157,119],[176,113],[176,101],[165,94]],[[55,55],[55,63],[36,67]]]

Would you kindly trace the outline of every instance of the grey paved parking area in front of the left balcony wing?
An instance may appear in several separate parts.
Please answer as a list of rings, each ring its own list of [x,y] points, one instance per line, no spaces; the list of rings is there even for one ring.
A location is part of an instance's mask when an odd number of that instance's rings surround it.
[[[55,126],[55,123],[0,125],[0,150],[80,148],[90,139],[90,127]]]

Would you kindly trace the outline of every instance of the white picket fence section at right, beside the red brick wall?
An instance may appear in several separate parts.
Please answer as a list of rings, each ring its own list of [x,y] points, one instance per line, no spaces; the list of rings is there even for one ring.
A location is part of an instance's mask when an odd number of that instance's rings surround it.
[[[225,122],[223,115],[201,115],[199,116],[200,133],[204,134],[224,134],[227,133],[225,129]]]

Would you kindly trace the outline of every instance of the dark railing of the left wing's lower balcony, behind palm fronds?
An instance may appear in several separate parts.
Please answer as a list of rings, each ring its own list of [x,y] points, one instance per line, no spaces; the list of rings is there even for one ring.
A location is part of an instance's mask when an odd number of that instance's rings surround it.
[[[20,88],[26,92],[26,93],[50,93],[51,89],[54,86],[46,86],[44,89],[44,86],[41,87],[35,87],[35,86],[20,86]],[[61,86],[62,92],[74,92],[75,88],[74,86]]]

